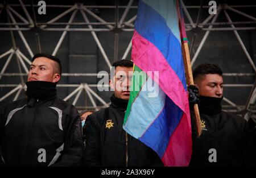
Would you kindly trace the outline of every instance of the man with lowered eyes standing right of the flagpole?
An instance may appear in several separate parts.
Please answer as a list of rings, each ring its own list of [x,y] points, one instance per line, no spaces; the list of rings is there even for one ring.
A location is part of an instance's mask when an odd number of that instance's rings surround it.
[[[246,161],[246,120],[221,110],[222,71],[215,64],[201,64],[193,71],[200,94],[199,112],[202,134],[193,127],[193,151],[190,166],[241,166]]]

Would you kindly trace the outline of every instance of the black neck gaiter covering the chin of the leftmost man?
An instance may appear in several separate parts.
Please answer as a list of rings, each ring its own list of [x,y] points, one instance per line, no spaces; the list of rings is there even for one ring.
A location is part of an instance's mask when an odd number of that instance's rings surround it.
[[[26,85],[26,94],[28,98],[35,98],[45,101],[49,98],[56,97],[56,82],[28,81],[26,82]]]

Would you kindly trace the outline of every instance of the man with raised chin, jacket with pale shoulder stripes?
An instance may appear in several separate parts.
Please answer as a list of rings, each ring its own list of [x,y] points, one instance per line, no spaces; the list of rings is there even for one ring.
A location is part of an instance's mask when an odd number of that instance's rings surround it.
[[[60,60],[39,53],[32,58],[27,98],[0,109],[2,165],[76,166],[81,164],[81,119],[75,106],[56,97]]]

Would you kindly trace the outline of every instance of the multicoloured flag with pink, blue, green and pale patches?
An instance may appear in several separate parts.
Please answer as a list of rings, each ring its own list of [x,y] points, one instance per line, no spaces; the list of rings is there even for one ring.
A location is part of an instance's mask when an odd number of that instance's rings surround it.
[[[178,0],[139,1],[134,74],[123,122],[123,129],[151,147],[166,166],[187,166],[192,154],[180,13]]]

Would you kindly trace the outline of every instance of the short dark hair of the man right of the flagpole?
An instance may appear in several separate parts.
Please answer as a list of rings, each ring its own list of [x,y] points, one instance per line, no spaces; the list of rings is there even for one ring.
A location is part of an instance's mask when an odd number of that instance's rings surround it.
[[[208,64],[208,63],[200,64],[193,70],[194,80],[196,79],[196,77],[204,76],[205,74],[218,74],[222,76],[222,71],[217,64]]]

